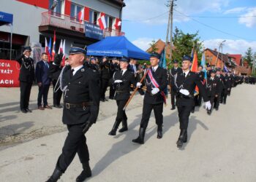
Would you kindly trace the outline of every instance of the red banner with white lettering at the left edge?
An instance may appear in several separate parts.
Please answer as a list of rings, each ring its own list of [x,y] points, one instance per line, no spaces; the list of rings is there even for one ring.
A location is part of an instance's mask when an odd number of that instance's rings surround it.
[[[20,87],[20,64],[16,60],[0,60],[0,87]]]

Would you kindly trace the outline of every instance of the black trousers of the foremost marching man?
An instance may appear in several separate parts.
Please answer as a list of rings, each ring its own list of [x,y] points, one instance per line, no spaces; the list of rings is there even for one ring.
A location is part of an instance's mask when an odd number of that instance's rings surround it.
[[[86,145],[86,136],[83,134],[83,124],[68,124],[67,130],[69,130],[69,133],[56,164],[56,168],[61,170],[62,173],[67,170],[76,153],[78,153],[82,164],[89,161],[89,150]]]

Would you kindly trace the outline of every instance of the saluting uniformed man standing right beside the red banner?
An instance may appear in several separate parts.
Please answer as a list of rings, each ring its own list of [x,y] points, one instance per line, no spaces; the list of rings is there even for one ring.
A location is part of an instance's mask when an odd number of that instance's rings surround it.
[[[23,55],[18,58],[20,63],[20,111],[31,112],[29,109],[29,98],[31,87],[34,82],[34,60],[30,58],[31,47],[24,47]]]

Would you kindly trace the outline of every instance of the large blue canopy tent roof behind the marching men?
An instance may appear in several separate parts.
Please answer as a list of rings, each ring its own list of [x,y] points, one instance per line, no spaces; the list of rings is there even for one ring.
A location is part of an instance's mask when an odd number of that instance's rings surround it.
[[[87,47],[87,55],[135,58],[149,60],[148,52],[140,50],[125,36],[108,36]]]

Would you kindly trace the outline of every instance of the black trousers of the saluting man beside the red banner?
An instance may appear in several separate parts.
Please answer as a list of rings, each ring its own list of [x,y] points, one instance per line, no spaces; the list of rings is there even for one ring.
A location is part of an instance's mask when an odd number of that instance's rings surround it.
[[[33,83],[20,82],[20,109],[29,108],[29,98]]]

